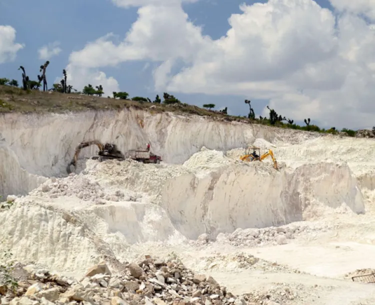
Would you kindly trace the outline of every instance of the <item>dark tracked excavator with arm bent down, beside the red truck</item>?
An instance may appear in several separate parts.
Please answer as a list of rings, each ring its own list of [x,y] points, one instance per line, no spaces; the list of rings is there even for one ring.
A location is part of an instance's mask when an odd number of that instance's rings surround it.
[[[70,163],[66,166],[67,173],[72,172],[71,166],[76,166],[79,152],[82,148],[96,145],[99,148],[99,151],[96,155],[92,156],[91,159],[97,159],[99,162],[103,160],[110,160],[110,159],[117,159],[117,160],[124,160],[125,156],[122,154],[121,151],[117,150],[115,144],[112,143],[105,143],[104,145],[98,140],[91,140],[79,143],[77,147],[75,147],[74,156],[71,159]]]

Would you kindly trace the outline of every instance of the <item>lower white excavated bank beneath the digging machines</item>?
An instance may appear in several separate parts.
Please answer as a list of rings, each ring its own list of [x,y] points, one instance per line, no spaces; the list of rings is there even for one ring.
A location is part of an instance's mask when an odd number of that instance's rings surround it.
[[[346,164],[274,170],[220,151],[184,164],[88,160],[77,175],[47,179],[0,211],[1,242],[22,260],[82,272],[103,257],[127,259],[131,244],[180,243],[208,233],[322,216],[324,208],[364,211]],[[78,254],[79,253],[79,254]]]

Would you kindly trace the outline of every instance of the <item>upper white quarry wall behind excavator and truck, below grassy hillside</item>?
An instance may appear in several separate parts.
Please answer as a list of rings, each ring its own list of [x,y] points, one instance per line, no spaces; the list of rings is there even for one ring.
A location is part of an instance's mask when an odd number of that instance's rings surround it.
[[[152,151],[165,162],[182,163],[202,146],[225,151],[242,147],[257,137],[296,142],[313,136],[316,135],[290,129],[131,109],[43,115],[7,113],[0,116],[0,158],[7,161],[6,168],[0,168],[0,195],[24,194],[40,182],[26,173],[66,174],[66,164],[83,140],[112,142],[122,151],[145,148],[150,142]],[[84,148],[80,156],[90,157],[96,150],[95,146]],[[25,183],[19,184],[20,181]]]

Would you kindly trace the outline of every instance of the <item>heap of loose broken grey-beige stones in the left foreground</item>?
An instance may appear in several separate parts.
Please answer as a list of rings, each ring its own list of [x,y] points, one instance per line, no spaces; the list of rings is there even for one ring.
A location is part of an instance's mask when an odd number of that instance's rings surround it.
[[[80,280],[34,269],[32,265],[22,266],[21,270],[25,274],[18,278],[14,289],[0,283],[1,305],[246,304],[211,276],[194,274],[173,256],[161,260],[147,255],[116,275],[102,261]]]

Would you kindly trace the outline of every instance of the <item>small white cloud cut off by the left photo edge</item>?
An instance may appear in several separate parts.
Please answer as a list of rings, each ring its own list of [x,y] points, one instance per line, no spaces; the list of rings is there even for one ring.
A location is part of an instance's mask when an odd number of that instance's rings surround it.
[[[13,61],[17,52],[24,47],[15,43],[15,29],[10,25],[0,25],[0,63]]]

